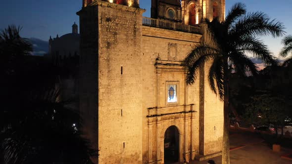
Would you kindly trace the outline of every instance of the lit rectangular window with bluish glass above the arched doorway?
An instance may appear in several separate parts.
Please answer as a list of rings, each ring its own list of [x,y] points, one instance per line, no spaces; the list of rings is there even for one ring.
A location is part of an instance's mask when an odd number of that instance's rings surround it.
[[[166,82],[166,104],[173,105],[179,102],[179,82]]]

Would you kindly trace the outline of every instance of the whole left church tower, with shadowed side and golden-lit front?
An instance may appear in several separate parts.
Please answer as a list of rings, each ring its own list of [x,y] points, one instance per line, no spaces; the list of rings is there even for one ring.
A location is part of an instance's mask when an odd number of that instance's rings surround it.
[[[95,164],[142,164],[144,11],[139,0],[83,0],[77,12],[80,111]]]

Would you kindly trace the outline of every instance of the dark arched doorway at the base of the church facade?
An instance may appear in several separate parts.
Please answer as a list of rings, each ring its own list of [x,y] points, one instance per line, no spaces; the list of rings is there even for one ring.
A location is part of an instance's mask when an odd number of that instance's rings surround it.
[[[179,130],[176,126],[169,126],[164,133],[164,164],[179,162]]]

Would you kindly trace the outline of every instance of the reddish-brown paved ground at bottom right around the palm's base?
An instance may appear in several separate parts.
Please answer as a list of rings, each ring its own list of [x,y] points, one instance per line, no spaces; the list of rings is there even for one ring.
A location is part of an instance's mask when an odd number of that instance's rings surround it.
[[[259,135],[252,133],[234,133],[230,135],[230,164],[292,164],[291,160],[281,158],[292,153],[292,149],[281,147],[281,152],[273,152]],[[221,163],[221,156],[212,158],[216,164]],[[205,161],[192,161],[189,164],[207,164]]]

